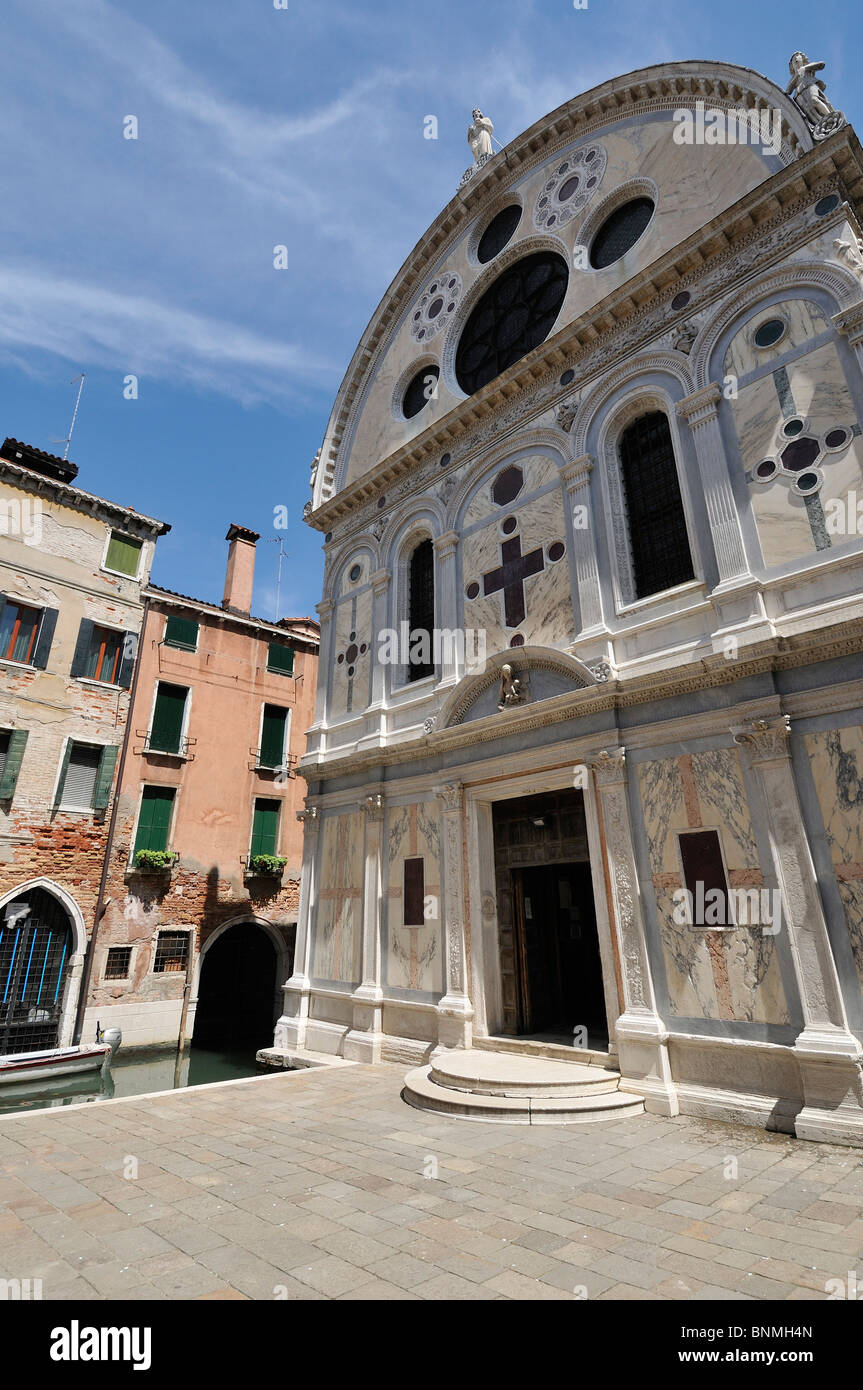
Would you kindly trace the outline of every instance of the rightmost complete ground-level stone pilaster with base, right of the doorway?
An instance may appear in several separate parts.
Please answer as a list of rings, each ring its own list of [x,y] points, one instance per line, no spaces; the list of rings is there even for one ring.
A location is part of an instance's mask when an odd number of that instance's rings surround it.
[[[803,1011],[794,1052],[805,1106],[798,1138],[863,1143],[863,1048],[848,1027],[842,990],[827,934],[819,881],[798,799],[789,753],[791,720],[759,719],[732,728],[752,760],[767,813],[770,851],[782,895],[782,923]]]

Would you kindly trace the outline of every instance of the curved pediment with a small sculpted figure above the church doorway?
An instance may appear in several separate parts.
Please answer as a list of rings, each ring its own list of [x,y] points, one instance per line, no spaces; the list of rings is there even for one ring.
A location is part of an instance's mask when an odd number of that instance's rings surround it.
[[[504,666],[510,667],[509,673],[504,673]],[[602,685],[609,677],[610,670],[602,663],[592,670],[566,652],[543,646],[499,652],[488,657],[485,670],[459,682],[442,712],[441,728],[470,724],[492,714],[506,720],[528,705]]]

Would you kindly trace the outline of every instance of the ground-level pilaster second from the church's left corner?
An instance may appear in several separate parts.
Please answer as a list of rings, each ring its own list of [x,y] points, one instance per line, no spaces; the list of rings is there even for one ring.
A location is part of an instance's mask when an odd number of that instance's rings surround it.
[[[381,987],[381,849],[385,802],[382,792],[363,801],[365,812],[365,866],[363,873],[363,980],[353,991],[353,1019],[345,1037],[350,1062],[379,1062],[384,1042],[384,990]]]

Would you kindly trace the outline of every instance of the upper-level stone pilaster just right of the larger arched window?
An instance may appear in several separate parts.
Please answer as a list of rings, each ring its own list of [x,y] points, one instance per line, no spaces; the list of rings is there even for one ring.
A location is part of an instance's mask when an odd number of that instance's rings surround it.
[[[750,578],[743,534],[731,491],[731,477],[718,425],[718,403],[723,399],[717,382],[702,386],[677,402],[677,413],[687,421],[695,442],[698,470],[705,489],[713,550],[718,569],[718,589],[738,587]]]

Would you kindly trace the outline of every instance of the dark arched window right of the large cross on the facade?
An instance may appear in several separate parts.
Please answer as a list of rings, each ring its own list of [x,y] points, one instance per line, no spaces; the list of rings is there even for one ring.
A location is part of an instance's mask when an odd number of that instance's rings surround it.
[[[620,467],[635,596],[643,599],[695,577],[671,430],[661,410],[624,430]]]

